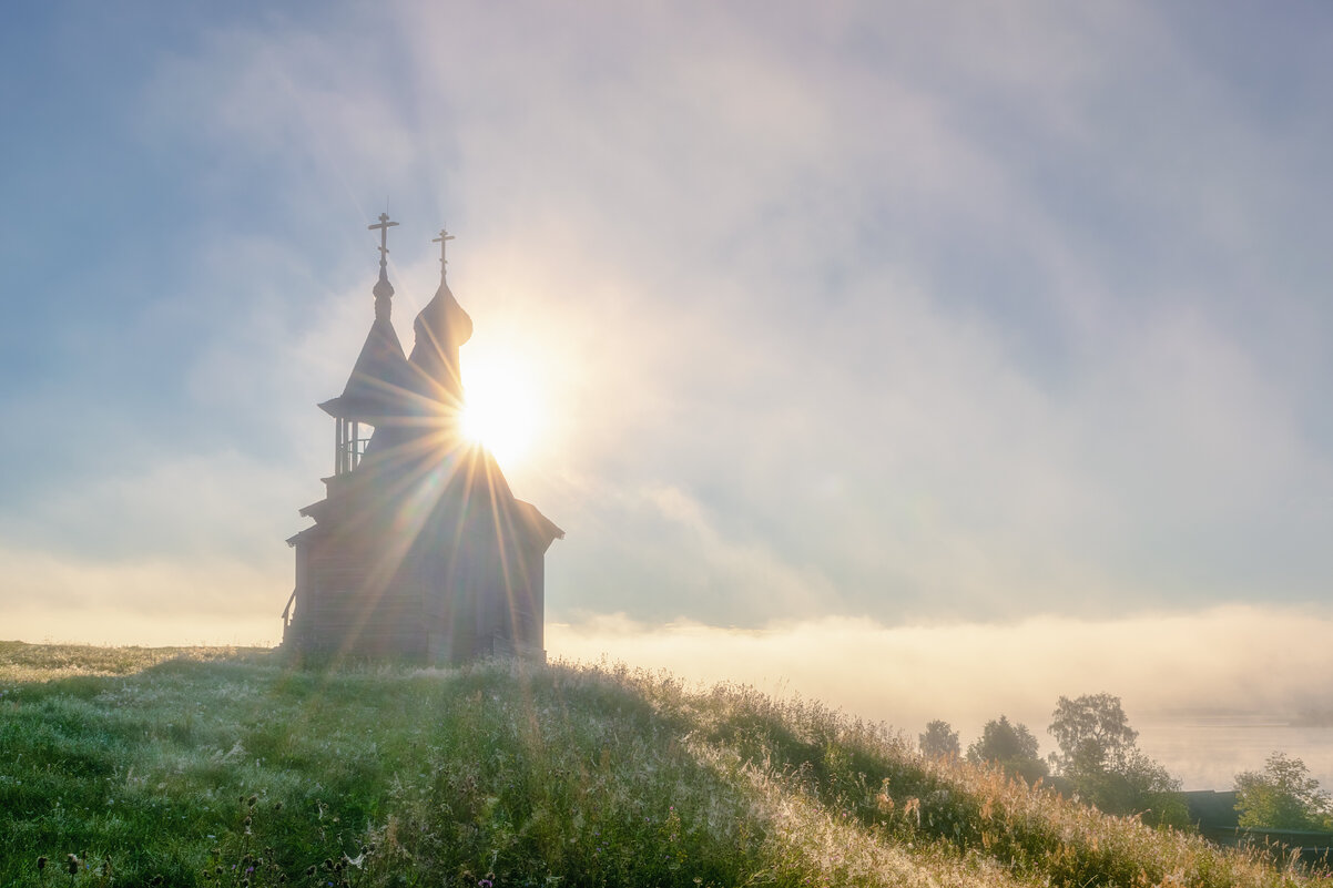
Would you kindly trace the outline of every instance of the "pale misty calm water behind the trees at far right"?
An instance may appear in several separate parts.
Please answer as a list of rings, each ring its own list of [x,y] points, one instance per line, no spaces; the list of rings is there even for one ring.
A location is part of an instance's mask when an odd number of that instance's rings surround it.
[[[1134,723],[1138,747],[1185,789],[1232,789],[1241,771],[1262,771],[1274,751],[1301,759],[1333,792],[1333,727],[1273,716],[1157,716]]]

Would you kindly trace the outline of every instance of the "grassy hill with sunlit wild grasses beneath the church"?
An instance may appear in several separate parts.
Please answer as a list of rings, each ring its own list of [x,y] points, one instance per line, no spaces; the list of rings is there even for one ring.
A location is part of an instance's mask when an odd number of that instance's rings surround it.
[[[0,884],[1314,883],[744,687],[0,643]]]

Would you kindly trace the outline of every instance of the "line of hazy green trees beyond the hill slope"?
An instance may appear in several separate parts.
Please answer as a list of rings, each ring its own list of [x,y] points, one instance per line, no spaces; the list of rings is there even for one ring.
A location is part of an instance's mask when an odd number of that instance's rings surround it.
[[[1154,825],[1192,825],[1180,781],[1138,748],[1138,732],[1129,727],[1120,697],[1061,696],[1048,732],[1058,751],[1045,759],[1032,731],[1002,715],[985,724],[965,756],[948,721],[930,721],[918,739],[921,755],[932,759],[966,757],[1029,784],[1049,780],[1105,813],[1136,815]],[[1236,775],[1236,793],[1241,827],[1333,831],[1329,793],[1300,759],[1274,752],[1262,771]]]

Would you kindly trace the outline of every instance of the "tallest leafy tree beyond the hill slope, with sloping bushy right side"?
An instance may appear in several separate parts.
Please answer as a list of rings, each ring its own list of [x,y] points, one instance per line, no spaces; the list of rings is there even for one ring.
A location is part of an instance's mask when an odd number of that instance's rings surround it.
[[[1060,697],[1050,736],[1056,771],[1084,801],[1110,815],[1142,815],[1150,824],[1186,827],[1180,781],[1137,747],[1138,732],[1110,693]]]

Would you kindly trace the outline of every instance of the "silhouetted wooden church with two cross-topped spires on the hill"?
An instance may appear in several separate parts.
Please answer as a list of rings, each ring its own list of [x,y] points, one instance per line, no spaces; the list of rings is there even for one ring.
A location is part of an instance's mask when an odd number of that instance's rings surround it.
[[[299,656],[463,663],[544,659],[544,561],[564,537],[509,491],[484,447],[460,428],[459,347],[472,319],[445,283],[413,323],[405,355],[391,321],[388,229],[381,213],[375,320],[347,387],[320,408],[333,417],[325,497],[315,524],[288,540],[296,588],[283,647]]]

